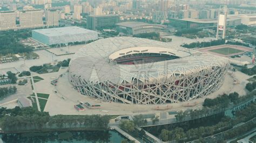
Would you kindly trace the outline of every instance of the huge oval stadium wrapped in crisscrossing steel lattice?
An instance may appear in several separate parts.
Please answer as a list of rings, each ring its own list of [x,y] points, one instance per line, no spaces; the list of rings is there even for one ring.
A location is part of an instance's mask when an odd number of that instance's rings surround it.
[[[71,59],[69,81],[83,95],[107,102],[166,104],[218,90],[230,62],[171,43],[118,37],[97,40]]]

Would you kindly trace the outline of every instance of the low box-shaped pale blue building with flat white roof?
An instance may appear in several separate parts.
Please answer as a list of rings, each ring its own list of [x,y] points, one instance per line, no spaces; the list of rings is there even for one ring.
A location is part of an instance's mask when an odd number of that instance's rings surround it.
[[[97,40],[98,33],[76,26],[32,30],[32,38],[45,45]]]

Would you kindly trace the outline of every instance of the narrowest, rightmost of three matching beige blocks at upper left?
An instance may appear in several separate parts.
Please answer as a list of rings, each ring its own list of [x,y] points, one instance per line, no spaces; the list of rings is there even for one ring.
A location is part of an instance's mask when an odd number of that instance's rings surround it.
[[[48,27],[59,26],[59,15],[56,10],[45,11],[45,20]]]

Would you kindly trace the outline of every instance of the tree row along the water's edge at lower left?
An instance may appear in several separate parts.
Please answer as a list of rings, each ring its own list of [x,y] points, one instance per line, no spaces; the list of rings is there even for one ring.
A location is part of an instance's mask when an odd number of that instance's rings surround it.
[[[48,112],[39,112],[33,108],[0,109],[2,112],[1,127],[5,132],[33,131],[53,128],[69,128],[74,126],[88,129],[106,129],[109,116],[84,115],[84,116],[50,116]],[[4,115],[10,116],[4,116]]]

